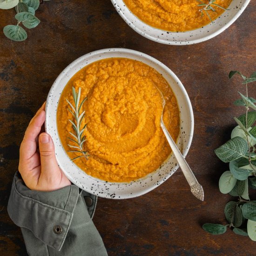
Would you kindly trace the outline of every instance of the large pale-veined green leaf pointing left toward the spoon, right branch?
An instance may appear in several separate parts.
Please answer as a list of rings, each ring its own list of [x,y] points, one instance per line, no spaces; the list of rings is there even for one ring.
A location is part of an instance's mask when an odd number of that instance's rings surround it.
[[[241,137],[235,137],[215,149],[215,154],[223,161],[230,162],[245,155],[248,150],[247,142]]]

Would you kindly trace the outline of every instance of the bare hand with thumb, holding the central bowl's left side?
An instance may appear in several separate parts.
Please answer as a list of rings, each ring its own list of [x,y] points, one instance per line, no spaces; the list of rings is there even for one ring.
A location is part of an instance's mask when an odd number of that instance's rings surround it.
[[[29,189],[53,191],[71,182],[57,164],[51,136],[42,132],[44,121],[45,103],[30,121],[21,142],[19,172]]]

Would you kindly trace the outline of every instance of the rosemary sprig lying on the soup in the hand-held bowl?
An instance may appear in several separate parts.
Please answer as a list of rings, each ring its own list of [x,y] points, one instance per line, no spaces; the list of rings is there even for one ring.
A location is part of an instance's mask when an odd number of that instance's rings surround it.
[[[85,99],[83,99],[81,101],[81,104],[79,105],[79,101],[80,101],[80,96],[81,96],[81,88],[78,89],[78,93],[76,93],[75,88],[72,88],[72,93],[73,93],[73,99],[74,99],[74,106],[66,99],[67,103],[69,104],[70,108],[67,108],[67,110],[74,116],[74,122],[70,119],[68,119],[68,121],[71,122],[72,127],[74,128],[75,134],[72,132],[69,132],[70,135],[72,135],[72,137],[74,137],[74,139],[68,137],[68,139],[70,141],[73,141],[76,146],[67,144],[70,148],[74,148],[74,150],[68,150],[67,152],[77,152],[77,153],[81,153],[82,155],[79,155],[77,157],[74,157],[71,160],[75,160],[77,158],[80,157],[85,157],[86,159],[88,159],[88,152],[83,150],[83,143],[86,141],[85,135],[83,135],[83,132],[87,126],[87,124],[84,125],[84,127],[81,129],[81,122],[85,116],[85,111],[83,111],[81,114],[80,110],[81,107],[83,105],[83,103],[87,100],[87,97]]]

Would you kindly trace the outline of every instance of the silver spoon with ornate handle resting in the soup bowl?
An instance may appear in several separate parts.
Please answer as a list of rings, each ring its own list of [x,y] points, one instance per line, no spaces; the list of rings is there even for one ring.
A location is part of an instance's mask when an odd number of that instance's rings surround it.
[[[157,87],[156,87],[157,88]],[[159,93],[161,94],[162,97],[162,116],[163,116],[163,109],[165,107],[165,99],[163,97],[162,92],[157,88],[157,90],[159,91]],[[167,128],[164,125],[163,119],[161,116],[161,128],[163,130],[163,133],[173,151],[173,154],[175,155],[175,158],[177,159],[177,162],[180,165],[180,168],[182,169],[182,172],[186,178],[186,180],[189,183],[189,186],[191,188],[191,192],[193,195],[195,195],[196,198],[198,198],[199,200],[203,201],[203,189],[202,186],[198,183],[198,181],[195,178],[195,175],[193,174],[192,170],[190,169],[188,163],[186,162],[185,158],[183,157],[181,151],[179,150],[179,148],[176,146],[175,141],[173,140],[173,138],[171,137],[171,135],[169,134]]]

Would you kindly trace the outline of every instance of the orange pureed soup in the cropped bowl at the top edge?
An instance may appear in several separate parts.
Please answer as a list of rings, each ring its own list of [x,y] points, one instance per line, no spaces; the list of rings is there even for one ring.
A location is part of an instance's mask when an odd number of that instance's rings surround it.
[[[209,16],[201,9],[197,0],[123,0],[126,6],[140,20],[148,25],[173,32],[184,32],[203,27],[210,22]],[[208,4],[209,0],[201,0]],[[227,9],[232,0],[216,0],[214,3]],[[215,20],[225,10],[211,5],[215,12],[209,10],[211,20]]]

